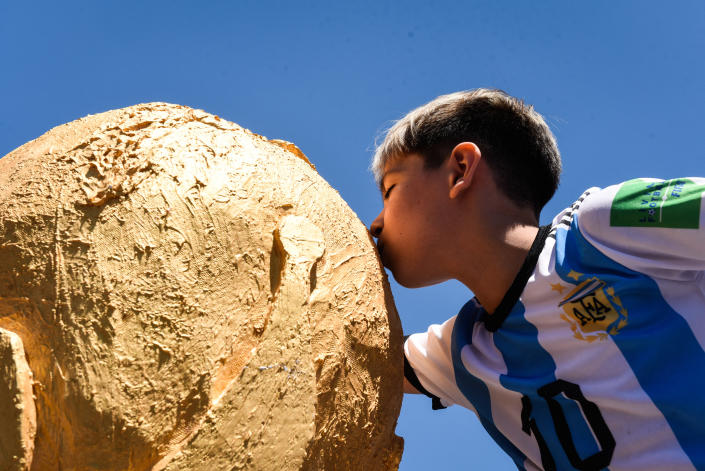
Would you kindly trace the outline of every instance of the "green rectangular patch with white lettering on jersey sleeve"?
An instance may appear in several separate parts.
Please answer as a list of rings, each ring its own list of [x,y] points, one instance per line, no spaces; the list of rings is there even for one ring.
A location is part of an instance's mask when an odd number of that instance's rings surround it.
[[[629,180],[612,200],[610,225],[698,229],[703,192],[705,185],[685,178]]]

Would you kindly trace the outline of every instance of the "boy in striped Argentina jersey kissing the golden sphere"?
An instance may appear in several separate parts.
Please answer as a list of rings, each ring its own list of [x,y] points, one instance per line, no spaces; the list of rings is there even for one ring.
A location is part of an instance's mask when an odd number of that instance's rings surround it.
[[[398,121],[373,164],[382,261],[476,297],[404,345],[405,392],[474,410],[519,469],[705,469],[705,179],[591,188],[532,107],[497,90]]]

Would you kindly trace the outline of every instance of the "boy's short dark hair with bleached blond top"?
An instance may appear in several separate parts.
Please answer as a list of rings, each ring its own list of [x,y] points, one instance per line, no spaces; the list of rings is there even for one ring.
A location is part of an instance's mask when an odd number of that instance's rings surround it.
[[[419,154],[438,168],[461,142],[474,142],[497,186],[536,217],[553,196],[561,173],[556,139],[530,105],[501,90],[478,88],[442,95],[416,108],[387,132],[372,160],[381,186],[390,160]]]

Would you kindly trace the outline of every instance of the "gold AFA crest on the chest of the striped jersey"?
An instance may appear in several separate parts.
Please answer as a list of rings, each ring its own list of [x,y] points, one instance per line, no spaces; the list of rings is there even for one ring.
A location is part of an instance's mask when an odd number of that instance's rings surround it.
[[[561,318],[570,323],[573,335],[580,340],[604,340],[627,325],[627,310],[614,288],[596,277],[578,284],[558,306],[563,308]]]

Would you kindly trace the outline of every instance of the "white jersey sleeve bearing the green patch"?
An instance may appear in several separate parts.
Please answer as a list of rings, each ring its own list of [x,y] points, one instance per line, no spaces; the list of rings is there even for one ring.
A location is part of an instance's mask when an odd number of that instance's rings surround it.
[[[705,178],[638,178],[591,190],[575,214],[583,236],[616,262],[688,280],[705,271],[704,194]]]

